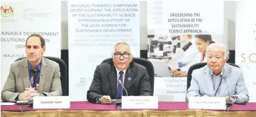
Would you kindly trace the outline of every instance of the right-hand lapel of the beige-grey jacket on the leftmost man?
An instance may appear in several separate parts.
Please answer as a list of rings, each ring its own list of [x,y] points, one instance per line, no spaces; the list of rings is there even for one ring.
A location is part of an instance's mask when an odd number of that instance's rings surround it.
[[[47,78],[47,68],[48,66],[48,63],[45,61],[45,58],[42,58],[42,65],[41,65],[41,71],[40,71],[40,75],[39,75],[39,78],[40,78],[40,81],[39,81],[39,92],[43,92],[43,88],[44,88],[44,85],[45,85],[45,80]]]

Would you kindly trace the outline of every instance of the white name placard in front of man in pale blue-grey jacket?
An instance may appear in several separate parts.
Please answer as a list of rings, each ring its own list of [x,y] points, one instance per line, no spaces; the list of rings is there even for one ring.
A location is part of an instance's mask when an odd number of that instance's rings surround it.
[[[189,97],[189,109],[226,109],[226,97]]]

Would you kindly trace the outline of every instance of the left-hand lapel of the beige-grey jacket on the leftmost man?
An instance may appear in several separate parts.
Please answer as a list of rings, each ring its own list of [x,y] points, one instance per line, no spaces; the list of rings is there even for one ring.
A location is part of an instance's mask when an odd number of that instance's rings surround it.
[[[28,75],[28,59],[23,60],[23,68],[21,68],[22,78],[23,78],[23,90],[29,88],[29,75]]]

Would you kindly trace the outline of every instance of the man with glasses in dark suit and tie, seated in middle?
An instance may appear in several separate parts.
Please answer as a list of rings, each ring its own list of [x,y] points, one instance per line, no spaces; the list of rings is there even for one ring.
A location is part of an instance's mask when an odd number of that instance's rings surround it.
[[[111,99],[121,99],[122,95],[152,96],[147,68],[131,62],[133,54],[127,42],[115,45],[112,58],[113,62],[96,67],[94,79],[87,91],[89,102],[111,104]],[[128,94],[123,90],[122,84]]]

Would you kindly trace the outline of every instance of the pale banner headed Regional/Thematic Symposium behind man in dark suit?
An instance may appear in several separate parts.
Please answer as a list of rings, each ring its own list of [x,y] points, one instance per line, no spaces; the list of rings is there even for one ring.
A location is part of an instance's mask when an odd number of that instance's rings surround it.
[[[94,70],[126,41],[140,57],[139,1],[68,1],[69,97],[87,100]]]

